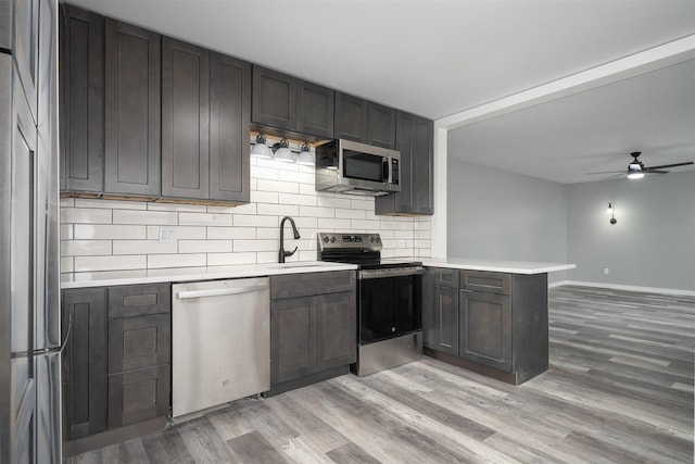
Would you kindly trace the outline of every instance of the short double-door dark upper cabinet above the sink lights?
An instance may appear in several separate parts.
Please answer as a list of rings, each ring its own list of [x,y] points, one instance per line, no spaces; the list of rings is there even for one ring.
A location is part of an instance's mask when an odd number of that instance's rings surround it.
[[[251,121],[257,130],[291,138],[333,137],[333,90],[253,66]]]

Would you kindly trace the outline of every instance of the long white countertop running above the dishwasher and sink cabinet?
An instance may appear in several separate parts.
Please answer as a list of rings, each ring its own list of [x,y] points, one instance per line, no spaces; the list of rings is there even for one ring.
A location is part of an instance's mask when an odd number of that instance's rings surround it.
[[[353,271],[354,264],[303,261],[291,263],[239,264],[205,267],[166,267],[162,269],[103,271],[61,274],[61,288],[103,287],[113,285],[153,284],[164,281],[215,280],[280,274],[325,271]]]

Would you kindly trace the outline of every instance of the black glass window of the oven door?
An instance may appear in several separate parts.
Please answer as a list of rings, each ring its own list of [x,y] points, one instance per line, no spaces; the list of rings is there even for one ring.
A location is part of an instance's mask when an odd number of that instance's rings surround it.
[[[420,330],[420,285],[419,275],[359,280],[359,342]]]

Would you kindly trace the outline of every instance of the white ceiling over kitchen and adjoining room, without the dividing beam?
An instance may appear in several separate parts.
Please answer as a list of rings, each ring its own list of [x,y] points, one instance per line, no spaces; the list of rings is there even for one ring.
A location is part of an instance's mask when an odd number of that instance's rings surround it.
[[[693,0],[70,0],[433,120],[695,34]],[[450,130],[450,156],[560,183],[695,160],[693,62]],[[571,173],[579,174],[571,174]]]

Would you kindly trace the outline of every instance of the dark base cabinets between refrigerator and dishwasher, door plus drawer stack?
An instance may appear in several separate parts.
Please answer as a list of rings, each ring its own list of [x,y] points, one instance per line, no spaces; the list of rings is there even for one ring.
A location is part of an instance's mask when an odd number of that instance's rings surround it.
[[[67,439],[163,418],[170,391],[170,286],[66,289]],[[104,443],[109,438],[104,438]]]

